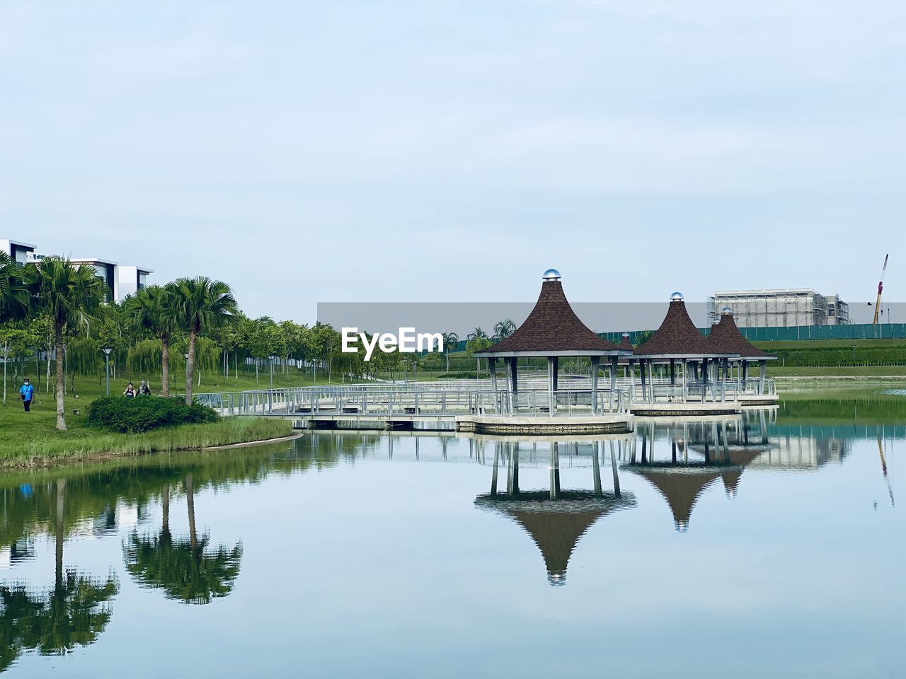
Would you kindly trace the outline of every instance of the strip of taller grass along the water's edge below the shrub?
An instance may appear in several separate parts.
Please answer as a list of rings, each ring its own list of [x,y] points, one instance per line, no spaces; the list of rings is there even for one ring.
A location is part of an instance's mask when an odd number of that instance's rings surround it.
[[[3,433],[0,466],[10,467],[262,441],[290,435],[292,426],[284,420],[264,417],[226,417],[211,424],[162,427],[144,434],[115,434],[82,424],[58,432],[26,421],[4,426]]]

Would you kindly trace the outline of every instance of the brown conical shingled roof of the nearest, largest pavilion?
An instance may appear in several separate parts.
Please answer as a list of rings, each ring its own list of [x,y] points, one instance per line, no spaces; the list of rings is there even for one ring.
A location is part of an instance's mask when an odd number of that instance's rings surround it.
[[[547,280],[541,284],[541,294],[535,309],[525,322],[506,339],[493,347],[476,352],[478,355],[506,352],[587,351],[610,352],[620,349],[601,339],[575,315],[564,295],[562,282]]]

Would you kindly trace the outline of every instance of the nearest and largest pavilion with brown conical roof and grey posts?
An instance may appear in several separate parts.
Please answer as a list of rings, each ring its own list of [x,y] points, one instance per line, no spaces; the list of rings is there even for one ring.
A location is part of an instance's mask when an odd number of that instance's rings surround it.
[[[622,349],[598,337],[579,320],[564,294],[560,272],[548,269],[544,274],[541,293],[535,308],[516,331],[496,345],[477,351],[475,357],[487,359],[491,373],[491,388],[496,393],[496,361],[503,359],[506,364],[508,390],[516,396],[519,391],[517,362],[519,359],[547,359],[547,391],[550,399],[549,412],[556,410],[557,371],[560,359],[588,357],[592,362],[592,414],[598,412],[598,372],[602,357],[610,359],[611,391],[609,409],[612,409],[613,394],[616,391],[617,360],[631,355],[630,349]]]

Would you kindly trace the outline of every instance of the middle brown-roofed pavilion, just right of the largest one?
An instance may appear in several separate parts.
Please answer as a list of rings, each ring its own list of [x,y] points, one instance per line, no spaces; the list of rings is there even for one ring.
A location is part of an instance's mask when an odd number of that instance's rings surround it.
[[[726,365],[731,358],[737,358],[735,351],[715,347],[699,332],[689,318],[686,303],[679,292],[670,295],[670,305],[660,328],[651,339],[636,347],[633,359],[639,362],[641,376],[641,397],[644,402],[654,403],[657,400],[655,385],[651,379],[651,366],[654,364],[670,365],[670,383],[667,388],[667,400],[679,397],[682,403],[689,401],[691,387],[701,390],[700,401],[708,401],[708,366]],[[681,367],[681,389],[677,386],[677,364]],[[693,373],[689,380],[690,370]],[[633,371],[634,377],[634,371]],[[724,373],[726,380],[726,372]],[[716,378],[710,383],[710,401],[717,403],[726,400],[726,381],[716,384]]]

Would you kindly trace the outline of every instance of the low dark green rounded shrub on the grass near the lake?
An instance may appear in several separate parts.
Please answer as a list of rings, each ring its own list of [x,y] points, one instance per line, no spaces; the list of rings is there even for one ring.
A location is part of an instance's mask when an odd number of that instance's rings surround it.
[[[103,397],[88,406],[88,424],[133,434],[160,426],[217,421],[217,413],[199,403],[187,406],[181,398]]]

